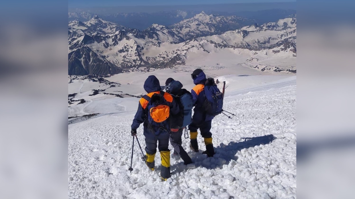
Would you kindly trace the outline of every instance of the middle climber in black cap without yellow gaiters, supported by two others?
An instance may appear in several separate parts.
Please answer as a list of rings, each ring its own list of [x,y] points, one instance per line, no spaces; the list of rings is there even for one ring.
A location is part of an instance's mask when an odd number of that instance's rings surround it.
[[[174,84],[175,83],[175,84]],[[177,87],[173,87],[173,85],[177,85]],[[186,89],[182,89],[182,84],[179,81],[175,81],[173,78],[168,78],[165,81],[166,92],[170,93],[176,103],[179,104],[180,112],[176,115],[170,115],[170,144],[174,147],[174,153],[171,155],[172,158],[181,159],[184,161],[184,164],[191,164],[192,160],[190,156],[186,153],[185,149],[181,146],[182,140],[182,132],[184,127],[181,126],[182,120],[184,119],[184,109],[179,100],[179,97],[184,95],[185,93],[191,94]]]

